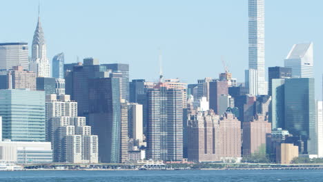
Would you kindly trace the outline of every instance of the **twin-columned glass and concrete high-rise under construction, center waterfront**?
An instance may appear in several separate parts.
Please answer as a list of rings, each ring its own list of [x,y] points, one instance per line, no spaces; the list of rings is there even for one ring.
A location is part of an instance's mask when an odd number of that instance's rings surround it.
[[[159,82],[148,90],[147,157],[183,159],[183,89]]]

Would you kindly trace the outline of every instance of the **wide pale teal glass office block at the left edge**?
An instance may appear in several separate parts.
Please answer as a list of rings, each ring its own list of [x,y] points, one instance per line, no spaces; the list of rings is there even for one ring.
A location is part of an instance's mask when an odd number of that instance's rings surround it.
[[[3,139],[45,141],[45,92],[0,90]]]

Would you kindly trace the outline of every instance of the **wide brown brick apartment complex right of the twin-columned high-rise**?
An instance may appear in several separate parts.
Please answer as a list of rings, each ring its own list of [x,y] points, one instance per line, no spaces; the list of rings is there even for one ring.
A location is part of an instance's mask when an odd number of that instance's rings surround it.
[[[232,113],[213,110],[188,117],[188,160],[222,161],[241,157],[241,122]]]

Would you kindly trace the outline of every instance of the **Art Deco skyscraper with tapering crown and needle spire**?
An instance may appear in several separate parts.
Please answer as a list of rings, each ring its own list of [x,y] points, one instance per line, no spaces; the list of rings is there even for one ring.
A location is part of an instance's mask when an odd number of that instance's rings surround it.
[[[43,28],[38,10],[38,22],[32,39],[32,58],[30,60],[30,70],[37,74],[37,77],[50,77],[50,62],[47,58],[46,41],[43,36]]]

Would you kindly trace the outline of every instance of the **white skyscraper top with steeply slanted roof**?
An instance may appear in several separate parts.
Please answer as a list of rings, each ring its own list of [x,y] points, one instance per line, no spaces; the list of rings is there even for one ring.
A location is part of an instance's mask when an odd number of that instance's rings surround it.
[[[313,78],[313,43],[294,44],[284,63],[293,78]]]

